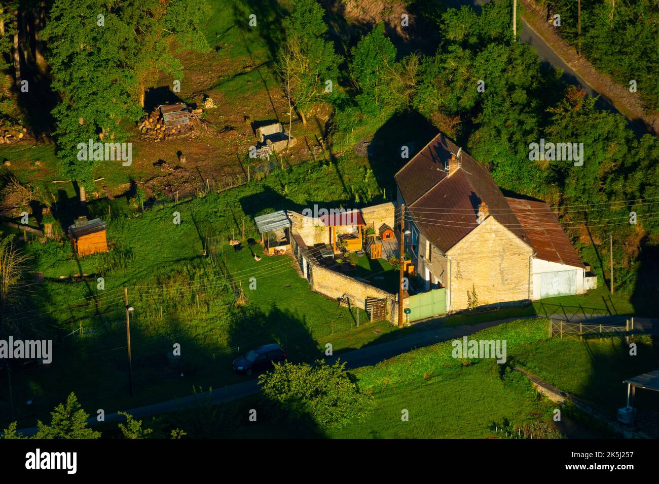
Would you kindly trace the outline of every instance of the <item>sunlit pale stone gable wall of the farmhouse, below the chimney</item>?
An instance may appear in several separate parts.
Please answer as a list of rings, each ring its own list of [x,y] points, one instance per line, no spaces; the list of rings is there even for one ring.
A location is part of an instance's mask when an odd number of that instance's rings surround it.
[[[530,246],[490,216],[448,252],[450,284],[447,309],[467,308],[472,285],[478,306],[524,302],[529,283]]]

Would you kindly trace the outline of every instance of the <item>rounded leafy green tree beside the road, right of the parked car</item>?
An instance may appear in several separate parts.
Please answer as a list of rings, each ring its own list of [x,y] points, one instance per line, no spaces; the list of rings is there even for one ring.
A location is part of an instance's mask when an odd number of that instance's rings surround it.
[[[372,401],[345,370],[345,362],[279,363],[273,371],[260,375],[258,383],[264,396],[287,417],[310,419],[322,427],[341,427],[365,416]]]

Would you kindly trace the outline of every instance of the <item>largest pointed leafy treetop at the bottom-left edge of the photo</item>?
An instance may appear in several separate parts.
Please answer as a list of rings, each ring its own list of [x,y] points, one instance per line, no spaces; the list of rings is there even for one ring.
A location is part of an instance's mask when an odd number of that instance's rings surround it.
[[[101,437],[100,432],[88,426],[89,414],[82,410],[73,392],[69,394],[66,405],[56,406],[51,416],[50,425],[46,425],[41,420],[37,422],[34,439],[99,439]]]

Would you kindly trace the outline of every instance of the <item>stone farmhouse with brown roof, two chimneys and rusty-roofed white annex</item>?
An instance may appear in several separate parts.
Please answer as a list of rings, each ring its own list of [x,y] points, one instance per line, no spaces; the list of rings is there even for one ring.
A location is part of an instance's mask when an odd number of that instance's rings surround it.
[[[405,204],[405,251],[445,311],[523,304],[596,286],[552,209],[503,196],[488,169],[438,134],[395,175],[396,232]]]

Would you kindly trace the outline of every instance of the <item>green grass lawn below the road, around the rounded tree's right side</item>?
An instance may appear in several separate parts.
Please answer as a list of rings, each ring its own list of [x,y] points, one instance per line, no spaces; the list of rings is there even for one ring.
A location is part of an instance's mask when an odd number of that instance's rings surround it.
[[[509,358],[546,337],[546,319],[512,321],[480,331],[470,338],[505,339]],[[258,423],[240,419],[227,435],[242,438],[487,438],[494,426],[524,425],[551,420],[555,404],[538,396],[519,372],[494,360],[457,360],[451,342],[391,358],[353,371],[360,387],[374,398],[372,412],[343,428],[302,432],[295,424],[271,419],[276,409],[250,397],[234,402],[237,415],[256,408]],[[409,421],[401,412],[409,412]]]

